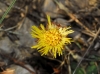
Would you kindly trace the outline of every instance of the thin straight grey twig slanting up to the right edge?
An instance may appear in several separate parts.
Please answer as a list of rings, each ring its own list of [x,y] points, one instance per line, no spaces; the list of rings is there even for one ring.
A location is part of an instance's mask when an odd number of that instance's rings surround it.
[[[98,36],[99,33],[100,33],[100,28],[99,28],[99,30],[97,31],[97,33],[96,33],[96,35],[95,35],[93,41],[91,42],[90,46],[88,47],[88,49],[87,49],[86,52],[84,53],[83,57],[80,59],[80,61],[79,61],[78,65],[76,66],[76,68],[75,68],[73,74],[75,74],[77,68],[80,66],[80,64],[81,64],[81,62],[83,61],[84,57],[87,55],[88,51],[90,50],[91,46],[93,45],[93,43],[94,43],[94,41],[95,41],[95,39],[97,38],[97,36]]]

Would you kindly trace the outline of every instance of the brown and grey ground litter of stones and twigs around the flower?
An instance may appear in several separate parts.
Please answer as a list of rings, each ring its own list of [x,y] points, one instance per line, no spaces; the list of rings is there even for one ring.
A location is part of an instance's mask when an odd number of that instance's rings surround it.
[[[0,17],[11,2],[0,0]],[[74,31],[56,59],[31,48],[37,42],[31,27],[46,27],[46,15]],[[0,74],[100,74],[99,30],[100,0],[17,0],[0,24]]]

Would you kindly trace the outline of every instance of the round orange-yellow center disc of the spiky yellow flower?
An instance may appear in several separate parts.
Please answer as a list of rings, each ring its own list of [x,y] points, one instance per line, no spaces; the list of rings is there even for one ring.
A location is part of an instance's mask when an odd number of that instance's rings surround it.
[[[56,46],[61,41],[61,34],[58,30],[52,29],[46,31],[45,33],[45,42],[50,46]]]

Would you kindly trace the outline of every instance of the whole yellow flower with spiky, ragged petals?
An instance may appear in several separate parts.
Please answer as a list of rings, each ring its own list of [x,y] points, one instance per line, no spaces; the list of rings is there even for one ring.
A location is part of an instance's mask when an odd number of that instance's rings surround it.
[[[41,55],[48,55],[49,53],[56,58],[56,55],[62,55],[64,46],[71,44],[72,39],[67,35],[73,33],[71,27],[61,27],[51,23],[50,17],[47,15],[48,25],[45,28],[42,24],[40,27],[32,26],[31,35],[37,39],[37,45],[31,48],[36,48]]]

